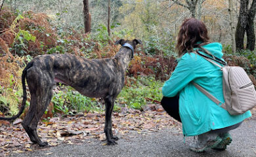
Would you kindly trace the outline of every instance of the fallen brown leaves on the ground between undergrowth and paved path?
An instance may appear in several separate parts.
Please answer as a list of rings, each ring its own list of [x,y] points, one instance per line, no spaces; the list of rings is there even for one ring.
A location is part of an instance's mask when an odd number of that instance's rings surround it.
[[[39,122],[37,131],[42,141],[49,146],[39,147],[33,144],[26,131],[22,128],[22,120],[17,119],[12,124],[0,121],[0,156],[11,153],[29,152],[37,149],[47,149],[60,144],[79,145],[95,140],[106,145],[104,134],[104,113],[85,113],[65,115],[51,118],[47,122]],[[120,113],[112,114],[112,130],[114,135],[125,137],[173,128],[178,126],[177,133],[182,133],[181,123],[173,120],[160,105],[147,105],[144,111],[122,109]],[[125,135],[125,136],[123,136]]]

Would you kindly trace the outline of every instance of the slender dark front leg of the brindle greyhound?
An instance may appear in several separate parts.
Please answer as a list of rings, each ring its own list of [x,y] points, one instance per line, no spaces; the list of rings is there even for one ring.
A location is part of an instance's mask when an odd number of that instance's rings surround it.
[[[112,133],[112,111],[114,108],[114,97],[107,96],[105,99],[106,113],[105,113],[105,128],[104,132],[106,134],[106,139],[108,141],[108,145],[116,145],[115,139],[117,137],[113,137]]]

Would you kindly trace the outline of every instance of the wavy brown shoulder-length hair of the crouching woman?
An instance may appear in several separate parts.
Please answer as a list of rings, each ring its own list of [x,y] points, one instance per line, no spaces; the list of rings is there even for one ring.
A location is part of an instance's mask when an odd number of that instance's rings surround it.
[[[186,52],[192,52],[193,48],[198,46],[196,43],[209,42],[207,28],[202,21],[196,18],[188,18],[182,23],[177,37],[176,49],[179,56]]]

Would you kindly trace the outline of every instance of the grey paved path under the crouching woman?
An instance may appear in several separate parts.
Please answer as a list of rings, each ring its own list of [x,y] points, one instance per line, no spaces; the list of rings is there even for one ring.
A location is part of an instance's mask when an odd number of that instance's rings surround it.
[[[188,148],[192,137],[186,138],[183,143],[181,133],[177,128],[152,132],[142,135],[130,133],[122,136],[116,146],[102,145],[102,141],[93,139],[82,145],[60,145],[58,147],[43,148],[24,154],[11,154],[11,156],[255,156],[256,157],[256,119],[245,120],[240,128],[231,131],[233,142],[227,150],[207,150],[196,153]],[[91,141],[91,140],[90,140]]]

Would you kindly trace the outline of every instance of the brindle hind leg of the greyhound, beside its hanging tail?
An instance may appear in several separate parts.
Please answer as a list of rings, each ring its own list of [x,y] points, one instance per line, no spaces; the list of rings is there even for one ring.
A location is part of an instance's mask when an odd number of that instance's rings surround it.
[[[39,139],[37,135],[37,124],[53,96],[53,78],[49,76],[49,74],[43,74],[39,71],[37,73],[30,73],[27,77],[31,101],[30,109],[22,122],[22,126],[28,133],[30,140],[40,146],[48,144]]]

